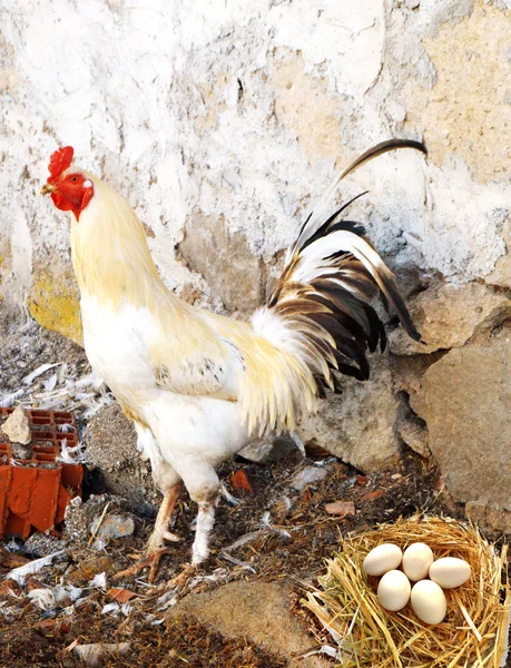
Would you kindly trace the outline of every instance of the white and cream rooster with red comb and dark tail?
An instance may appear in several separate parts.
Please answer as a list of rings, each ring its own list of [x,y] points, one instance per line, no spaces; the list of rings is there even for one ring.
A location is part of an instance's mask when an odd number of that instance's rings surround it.
[[[426,153],[416,141],[384,141],[341,174],[303,224],[267,304],[250,322],[196,308],[167,289],[129,204],[75,167],[72,147],[51,156],[41,193],[71,214],[87,356],[132,420],[164,495],[137,567],[150,566],[151,578],[165,541],[176,540],[169,521],[181,481],[198,504],[191,563],[199,564],[208,557],[220,491],[215,466],[257,436],[293,433],[326,387],[338,390],[335,372],[368,377],[366,351],[385,347],[371,305],[375,295],[420,340],[364,228],[340,218],[353,199],[325,219],[342,178],[403,147]]]

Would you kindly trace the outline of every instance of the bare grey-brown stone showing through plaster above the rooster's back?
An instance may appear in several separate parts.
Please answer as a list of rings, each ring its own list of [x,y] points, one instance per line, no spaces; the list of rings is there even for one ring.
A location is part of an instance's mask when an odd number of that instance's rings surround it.
[[[195,209],[179,252],[206,278],[227,311],[252,312],[264,299],[266,269],[244,234],[229,234],[224,218]]]

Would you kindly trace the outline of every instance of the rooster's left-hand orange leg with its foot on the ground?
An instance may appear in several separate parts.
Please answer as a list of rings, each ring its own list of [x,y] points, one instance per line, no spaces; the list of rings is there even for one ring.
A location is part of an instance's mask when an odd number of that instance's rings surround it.
[[[181,483],[178,482],[165,494],[156,518],[155,529],[153,530],[146,547],[146,556],[134,563],[134,566],[130,568],[116,573],[114,576],[114,580],[121,580],[124,578],[129,578],[130,576],[138,576],[140,571],[149,567],[149,582],[155,581],[161,557],[168,552],[168,548],[165,547],[165,541],[170,540],[176,542],[180,540],[177,536],[170,533],[168,530],[168,524],[171,520],[174,508],[177,499],[179,498],[180,490]]]

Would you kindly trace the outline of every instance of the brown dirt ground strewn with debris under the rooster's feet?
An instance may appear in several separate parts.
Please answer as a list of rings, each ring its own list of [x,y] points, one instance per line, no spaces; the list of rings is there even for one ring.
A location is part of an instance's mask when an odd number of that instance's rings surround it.
[[[245,462],[224,464],[220,475],[240,503],[232,508],[220,502],[212,557],[199,573],[206,578],[216,574],[218,579],[204,579],[190,593],[185,591],[183,596],[193,596],[233,580],[274,581],[286,578],[294,583],[298,599],[304,583],[313,582],[323,571],[325,558],[335,553],[341,534],[417,511],[462,517],[461,509],[450,503],[436,471],[417,455],[405,456],[393,471],[367,477],[331,460],[327,462],[328,474],[320,484],[308,485],[299,493],[291,490],[289,481],[312,463],[312,458],[304,460],[296,452],[272,466]],[[252,492],[233,488],[233,475],[240,470],[244,479],[246,477],[249,481]],[[341,518],[326,512],[325,504],[338,500],[353,501],[354,517]],[[272,529],[262,528],[262,518],[267,511]],[[75,608],[70,615],[65,603],[42,611],[26,595],[30,588],[53,586],[60,578],[66,583],[85,588],[97,573],[106,572],[109,577],[130,566],[144,547],[151,521],[139,520],[138,530],[129,540],[114,540],[99,553],[86,546],[70,544],[63,561],[45,568],[29,580],[26,588],[17,590],[19,599],[8,597],[9,610],[3,610],[3,619],[0,620],[0,665],[6,668],[79,666],[80,661],[66,650],[78,640],[80,644],[131,642],[129,655],[112,658],[104,664],[106,666],[286,666],[285,658],[269,656],[249,640],[226,640],[193,620],[151,623],[155,619],[165,618],[165,612],[158,611],[158,600],[165,595],[165,581],[179,572],[189,559],[194,518],[194,504],[183,493],[173,530],[184,540],[171,546],[170,553],[164,557],[155,587],[148,586],[147,576],[112,583],[138,595],[130,600],[132,609],[126,617],[122,613],[101,615],[104,606],[112,601],[111,595],[102,590],[91,590],[86,603]],[[225,550],[252,533],[255,533],[253,540]],[[6,552],[0,556],[0,561],[2,558],[0,569],[6,574],[13,564],[13,558]],[[314,628],[305,613],[302,620]],[[313,645],[314,638],[311,637]]]

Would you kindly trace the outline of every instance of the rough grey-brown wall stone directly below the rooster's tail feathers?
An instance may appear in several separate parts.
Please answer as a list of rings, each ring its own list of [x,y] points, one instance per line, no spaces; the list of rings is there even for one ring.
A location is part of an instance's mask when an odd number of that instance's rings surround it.
[[[386,355],[371,357],[365,383],[343,377],[342,394],[322,401],[315,415],[303,418],[298,435],[314,441],[362,471],[392,466],[401,450],[395,424],[400,402],[393,392]]]

